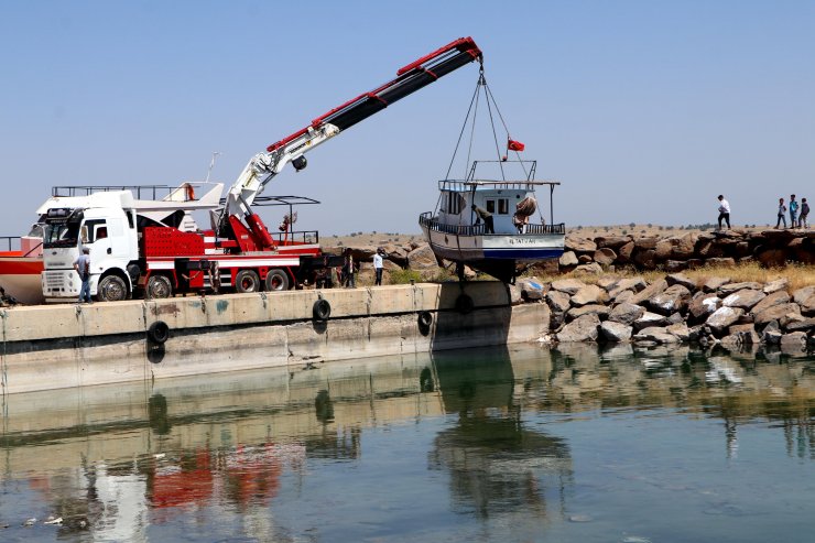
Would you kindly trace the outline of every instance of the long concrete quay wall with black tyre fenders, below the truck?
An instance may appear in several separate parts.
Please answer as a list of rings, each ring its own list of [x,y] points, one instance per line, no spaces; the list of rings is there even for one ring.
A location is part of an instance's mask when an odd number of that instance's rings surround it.
[[[548,307],[511,306],[503,283],[465,284],[467,313],[456,307],[461,294],[457,283],[422,283],[3,309],[2,392],[506,345],[548,332]],[[327,321],[313,316],[320,298]],[[159,321],[170,328],[163,344],[148,339]]]

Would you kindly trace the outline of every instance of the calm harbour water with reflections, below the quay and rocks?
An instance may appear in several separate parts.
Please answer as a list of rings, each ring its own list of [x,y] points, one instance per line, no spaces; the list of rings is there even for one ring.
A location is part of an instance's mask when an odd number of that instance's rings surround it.
[[[814,414],[812,357],[588,345],[11,395],[0,541],[811,542]]]

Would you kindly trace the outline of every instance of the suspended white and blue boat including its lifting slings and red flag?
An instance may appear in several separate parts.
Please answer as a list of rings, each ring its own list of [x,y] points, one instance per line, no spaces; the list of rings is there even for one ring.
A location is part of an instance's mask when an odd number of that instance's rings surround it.
[[[499,151],[495,119],[498,117],[503,123],[503,117],[487,86],[482,67],[450,167],[446,177],[438,182],[436,208],[421,214],[419,224],[436,258],[456,264],[459,280],[464,281],[465,267],[469,267],[514,283],[525,264],[563,254],[566,227],[555,222],[553,204],[553,193],[559,182],[535,180],[537,162],[521,160],[519,153],[525,145],[510,137],[506,123],[506,154],[497,152],[497,160],[469,164],[481,95],[489,111],[490,144],[495,143]],[[470,133],[466,161],[469,170],[464,178],[456,180],[450,177],[450,171],[465,132]],[[515,153],[515,160],[509,160],[511,152]],[[537,189],[548,193],[548,221],[541,213]]]

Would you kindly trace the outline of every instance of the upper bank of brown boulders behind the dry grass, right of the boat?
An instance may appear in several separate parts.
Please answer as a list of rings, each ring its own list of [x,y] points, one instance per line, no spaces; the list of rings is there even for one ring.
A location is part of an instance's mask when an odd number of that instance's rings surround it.
[[[703,265],[757,261],[765,267],[815,263],[815,231],[724,230],[667,237],[567,236],[558,264],[563,272],[600,274],[619,268],[678,272]]]

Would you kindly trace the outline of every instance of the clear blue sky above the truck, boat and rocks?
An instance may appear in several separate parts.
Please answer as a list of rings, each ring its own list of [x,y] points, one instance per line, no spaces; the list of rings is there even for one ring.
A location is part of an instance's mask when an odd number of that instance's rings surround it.
[[[52,185],[230,184],[254,153],[459,36],[567,225],[774,221],[815,197],[813,1],[0,2],[0,235]],[[301,228],[417,232],[478,70],[287,169]],[[493,156],[480,156],[492,159]],[[316,207],[316,206],[315,206]],[[279,217],[263,211],[270,225]]]

